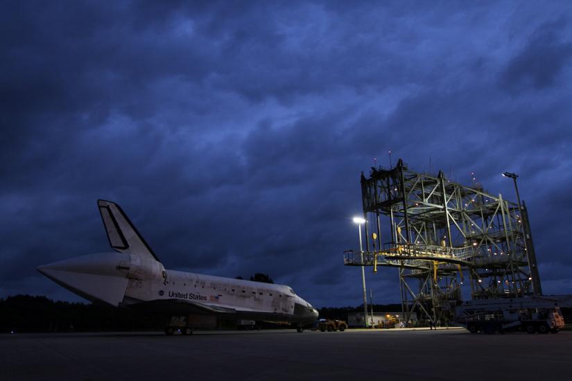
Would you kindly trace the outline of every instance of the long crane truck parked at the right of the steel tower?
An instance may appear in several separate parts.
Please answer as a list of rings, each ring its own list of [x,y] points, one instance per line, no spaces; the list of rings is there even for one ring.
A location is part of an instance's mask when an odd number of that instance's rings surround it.
[[[470,333],[558,333],[564,328],[560,306],[571,305],[572,295],[467,301],[456,307],[455,323]]]

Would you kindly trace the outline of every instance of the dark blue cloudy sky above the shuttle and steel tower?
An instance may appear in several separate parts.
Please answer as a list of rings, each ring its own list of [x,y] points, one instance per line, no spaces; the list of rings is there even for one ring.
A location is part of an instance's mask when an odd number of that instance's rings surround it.
[[[3,1],[0,297],[110,251],[119,203],[168,269],[359,305],[360,173],[401,157],[515,200],[572,294],[569,1]],[[374,303],[397,269],[367,269]]]

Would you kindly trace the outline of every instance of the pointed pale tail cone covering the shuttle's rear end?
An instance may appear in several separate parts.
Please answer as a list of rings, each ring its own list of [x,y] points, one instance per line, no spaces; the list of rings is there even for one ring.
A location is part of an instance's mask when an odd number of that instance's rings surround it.
[[[119,305],[128,279],[117,266],[128,262],[128,254],[92,254],[41,265],[36,269],[85,299]]]

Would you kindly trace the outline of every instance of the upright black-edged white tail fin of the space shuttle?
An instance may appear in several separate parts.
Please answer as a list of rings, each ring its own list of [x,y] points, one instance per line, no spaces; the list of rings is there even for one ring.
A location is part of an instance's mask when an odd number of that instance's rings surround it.
[[[105,225],[111,247],[120,253],[128,252],[161,262],[129,220],[121,206],[111,201],[98,200],[99,213]]]

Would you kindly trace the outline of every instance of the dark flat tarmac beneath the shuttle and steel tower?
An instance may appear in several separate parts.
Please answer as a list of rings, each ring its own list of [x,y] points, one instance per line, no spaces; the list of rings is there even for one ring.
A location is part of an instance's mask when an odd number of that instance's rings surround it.
[[[572,332],[0,335],[0,380],[572,380]]]

